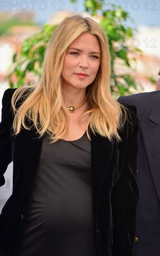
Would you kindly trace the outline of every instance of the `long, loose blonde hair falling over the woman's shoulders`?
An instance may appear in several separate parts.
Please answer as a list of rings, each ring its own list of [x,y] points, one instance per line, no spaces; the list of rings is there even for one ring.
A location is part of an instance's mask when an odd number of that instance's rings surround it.
[[[64,57],[70,44],[82,33],[95,35],[101,46],[101,63],[95,80],[86,88],[86,97],[89,110],[81,115],[90,114],[87,123],[87,136],[89,140],[89,128],[110,141],[116,138],[121,140],[118,129],[122,128],[125,120],[125,110],[116,102],[110,92],[110,55],[106,34],[102,28],[89,17],[74,15],[64,19],[53,32],[45,49],[45,57],[42,75],[38,83],[28,87],[18,88],[12,97],[14,112],[13,132],[19,134],[21,126],[27,126],[25,120],[32,121],[39,138],[47,133],[51,143],[63,139],[68,128],[66,115],[69,113],[64,105],[61,71]],[[28,88],[30,88],[28,90]],[[19,99],[23,103],[19,108],[16,104]],[[55,114],[58,113],[58,114]],[[122,114],[123,113],[123,114]],[[44,118],[45,117],[45,118]],[[69,116],[70,117],[70,116]]]

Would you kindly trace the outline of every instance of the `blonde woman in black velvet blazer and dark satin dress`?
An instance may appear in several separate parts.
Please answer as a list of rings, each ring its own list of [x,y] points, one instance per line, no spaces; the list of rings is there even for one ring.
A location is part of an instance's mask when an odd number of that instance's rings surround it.
[[[64,19],[38,84],[7,89],[0,123],[3,256],[132,256],[138,188],[134,106],[112,99],[106,35]]]

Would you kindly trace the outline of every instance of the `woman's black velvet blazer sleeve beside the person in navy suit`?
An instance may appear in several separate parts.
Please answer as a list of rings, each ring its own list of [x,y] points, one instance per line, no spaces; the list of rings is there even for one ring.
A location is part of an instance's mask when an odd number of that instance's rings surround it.
[[[125,128],[119,143],[120,176],[112,190],[113,256],[133,256],[136,232],[136,209],[139,191],[135,179],[138,157],[138,118],[136,108],[129,105]],[[127,143],[126,143],[127,141]]]

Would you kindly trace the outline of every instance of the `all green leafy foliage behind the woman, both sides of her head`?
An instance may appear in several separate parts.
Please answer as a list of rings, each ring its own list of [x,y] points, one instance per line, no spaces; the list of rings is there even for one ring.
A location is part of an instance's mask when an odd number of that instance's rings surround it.
[[[77,0],[71,0],[72,4],[76,2]],[[126,43],[126,39],[132,38],[135,29],[133,30],[131,27],[124,25],[124,21],[128,19],[132,20],[132,18],[122,8],[118,11],[115,11],[115,8],[103,11],[100,0],[85,0],[84,4],[86,11],[90,12],[92,15],[95,15],[97,11],[102,13],[100,26],[107,35],[111,56],[111,91],[116,96],[131,94],[131,88],[137,90],[137,83],[135,79],[128,74],[117,75],[117,72],[115,72],[115,61],[119,61],[120,67],[121,65],[123,67],[131,67],[130,62],[135,62],[136,59],[134,57],[129,59],[128,53],[134,51],[137,54],[142,54],[140,49],[130,49],[128,43]],[[28,72],[37,77],[41,75],[45,47],[56,27],[57,26],[45,24],[41,33],[34,34],[32,40],[30,38],[26,39],[19,56],[17,53],[13,55],[14,64],[9,74],[11,88],[14,87],[12,81],[13,74],[19,78],[16,84],[18,88],[25,83],[25,77]],[[43,40],[44,45],[42,44]],[[29,86],[31,81],[28,81],[25,85],[26,84]]]

